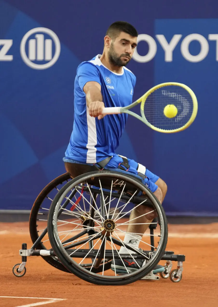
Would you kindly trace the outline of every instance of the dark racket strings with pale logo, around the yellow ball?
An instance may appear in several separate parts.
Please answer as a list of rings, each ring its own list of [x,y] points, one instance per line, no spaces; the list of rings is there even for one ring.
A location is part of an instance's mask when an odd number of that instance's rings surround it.
[[[174,105],[177,114],[172,117],[164,115],[164,108]],[[180,86],[169,85],[153,91],[144,104],[144,116],[153,126],[174,130],[184,126],[193,113],[193,100],[188,91]]]

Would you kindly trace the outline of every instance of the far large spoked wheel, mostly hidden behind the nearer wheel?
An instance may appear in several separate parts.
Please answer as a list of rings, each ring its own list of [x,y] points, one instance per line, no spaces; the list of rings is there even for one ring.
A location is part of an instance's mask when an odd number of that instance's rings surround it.
[[[33,242],[33,249],[41,250],[51,248],[47,234],[49,208],[57,192],[70,180],[70,175],[68,173],[64,173],[46,185],[46,187],[37,196],[29,216],[29,233]],[[35,244],[37,240],[38,243]],[[41,257],[57,269],[64,272],[69,272],[57,257]]]

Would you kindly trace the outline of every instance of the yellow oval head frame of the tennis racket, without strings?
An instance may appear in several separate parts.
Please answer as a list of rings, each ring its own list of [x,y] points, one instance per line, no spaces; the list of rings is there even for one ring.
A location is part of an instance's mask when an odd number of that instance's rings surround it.
[[[188,91],[188,93],[192,97],[192,101],[193,101],[193,111],[192,111],[192,115],[191,115],[189,121],[184,126],[177,128],[177,129],[173,129],[173,130],[160,129],[160,128],[157,128],[157,127],[151,125],[150,122],[147,121],[147,119],[144,115],[144,105],[146,103],[146,99],[148,98],[148,96],[151,93],[153,93],[155,90],[157,90],[158,88],[169,86],[169,85],[177,85],[177,86],[183,87],[186,91]],[[137,99],[136,103],[141,103],[140,111],[141,111],[141,115],[142,115],[142,118],[143,118],[143,122],[145,122],[145,124],[147,126],[149,126],[151,129],[158,131],[158,132],[162,132],[162,133],[174,133],[174,132],[179,132],[179,131],[185,130],[195,120],[196,115],[197,115],[197,110],[198,110],[198,103],[197,103],[197,98],[195,96],[195,93],[187,85],[182,84],[182,83],[177,83],[177,82],[165,82],[165,83],[161,83],[161,84],[158,84],[158,85],[152,87],[149,91],[147,91],[144,95],[142,95],[142,97]]]

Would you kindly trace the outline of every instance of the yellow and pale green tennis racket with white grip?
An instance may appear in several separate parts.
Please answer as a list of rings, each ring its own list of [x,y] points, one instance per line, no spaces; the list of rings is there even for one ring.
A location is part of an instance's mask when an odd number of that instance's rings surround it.
[[[141,103],[141,116],[130,111]],[[151,129],[174,133],[185,130],[197,115],[197,98],[185,84],[166,82],[158,84],[127,107],[104,108],[102,114],[127,113],[144,122]]]

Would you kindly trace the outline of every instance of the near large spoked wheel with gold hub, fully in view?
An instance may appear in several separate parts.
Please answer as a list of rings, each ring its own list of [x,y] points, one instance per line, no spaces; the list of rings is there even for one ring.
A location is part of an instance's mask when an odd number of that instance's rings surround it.
[[[152,246],[150,233],[144,231],[154,212],[159,223]],[[126,232],[132,238],[128,243]],[[53,251],[70,272],[98,285],[124,285],[158,264],[168,229],[161,204],[140,180],[105,170],[78,176],[61,188],[49,210],[48,234]],[[142,239],[135,249],[131,244],[139,235]]]

